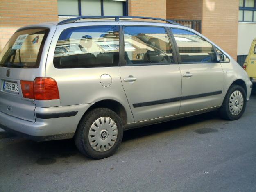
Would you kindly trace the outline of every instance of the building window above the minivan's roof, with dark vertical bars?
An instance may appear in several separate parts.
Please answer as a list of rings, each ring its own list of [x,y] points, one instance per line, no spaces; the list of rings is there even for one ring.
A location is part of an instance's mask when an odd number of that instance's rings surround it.
[[[128,15],[128,0],[58,0],[59,16]]]

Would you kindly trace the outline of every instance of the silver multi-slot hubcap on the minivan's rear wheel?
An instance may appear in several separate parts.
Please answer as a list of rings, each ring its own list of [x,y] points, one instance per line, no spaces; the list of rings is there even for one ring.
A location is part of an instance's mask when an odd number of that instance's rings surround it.
[[[116,123],[109,117],[98,118],[89,130],[89,142],[95,151],[107,151],[116,142],[117,139]]]

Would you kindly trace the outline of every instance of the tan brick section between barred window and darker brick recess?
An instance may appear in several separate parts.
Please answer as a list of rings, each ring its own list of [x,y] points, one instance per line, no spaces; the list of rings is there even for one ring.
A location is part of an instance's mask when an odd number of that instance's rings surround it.
[[[129,0],[129,16],[166,18],[165,0]]]

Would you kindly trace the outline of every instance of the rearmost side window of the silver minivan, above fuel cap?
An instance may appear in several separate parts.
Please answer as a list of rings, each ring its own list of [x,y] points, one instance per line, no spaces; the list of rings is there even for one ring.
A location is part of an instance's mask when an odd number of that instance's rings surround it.
[[[64,30],[54,53],[57,68],[118,66],[118,26],[86,26]]]

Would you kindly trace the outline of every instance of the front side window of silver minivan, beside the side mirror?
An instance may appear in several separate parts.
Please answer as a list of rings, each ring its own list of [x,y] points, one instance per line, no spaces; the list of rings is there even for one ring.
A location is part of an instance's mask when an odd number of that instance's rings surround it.
[[[216,62],[213,46],[202,37],[184,29],[172,29],[172,33],[179,47],[181,62]]]

